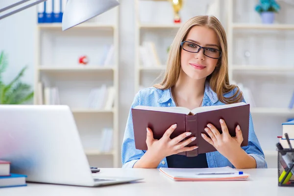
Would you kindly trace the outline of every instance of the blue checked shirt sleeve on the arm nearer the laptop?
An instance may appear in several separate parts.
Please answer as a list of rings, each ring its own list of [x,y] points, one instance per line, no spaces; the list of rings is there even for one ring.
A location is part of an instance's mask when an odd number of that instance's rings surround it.
[[[144,155],[144,150],[138,150],[135,147],[134,128],[131,109],[140,104],[139,92],[135,95],[129,115],[127,118],[123,144],[122,144],[122,165],[123,168],[133,168],[134,164]]]

